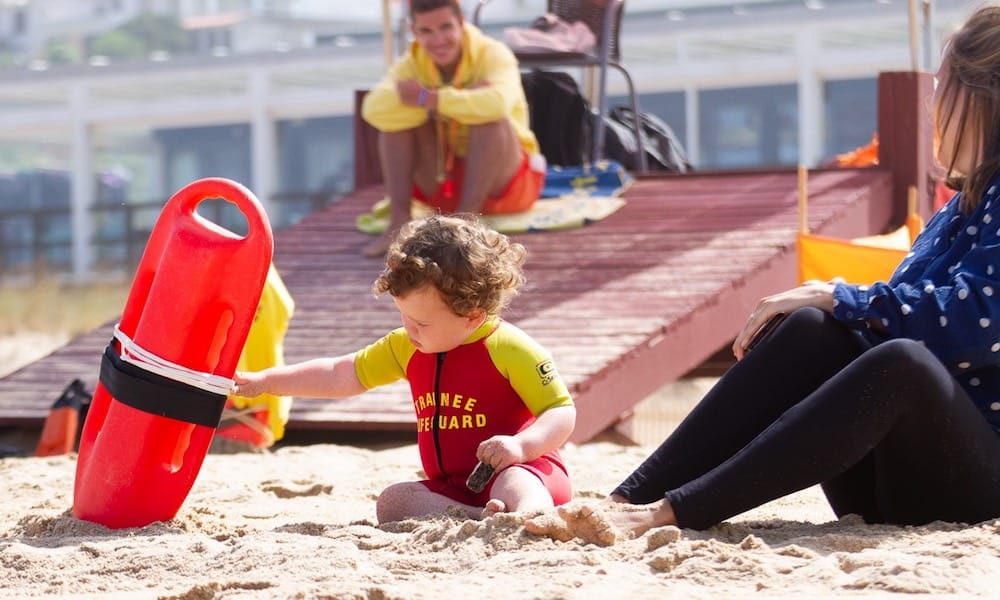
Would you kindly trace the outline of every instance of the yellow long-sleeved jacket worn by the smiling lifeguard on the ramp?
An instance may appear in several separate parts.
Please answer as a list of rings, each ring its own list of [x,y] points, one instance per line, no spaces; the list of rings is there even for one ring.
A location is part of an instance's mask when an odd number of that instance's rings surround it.
[[[517,59],[507,46],[482,34],[466,23],[462,32],[462,57],[451,82],[441,73],[430,55],[414,42],[390,67],[385,77],[366,96],[361,116],[380,131],[403,131],[427,122],[424,108],[408,106],[399,99],[396,83],[416,79],[427,89],[437,90],[439,118],[451,121],[448,147],[465,156],[469,147],[469,125],[507,118],[529,155],[539,152],[538,140],[528,122],[528,102],[521,87]],[[473,88],[488,81],[489,85]]]

